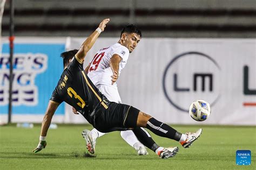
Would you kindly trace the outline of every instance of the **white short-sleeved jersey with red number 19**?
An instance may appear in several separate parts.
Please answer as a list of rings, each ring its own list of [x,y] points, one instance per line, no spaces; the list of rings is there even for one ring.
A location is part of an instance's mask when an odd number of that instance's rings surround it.
[[[118,73],[122,73],[129,58],[129,49],[116,43],[110,47],[100,49],[92,59],[87,76],[97,87],[99,84],[111,86],[117,89],[117,84],[112,85],[111,76],[113,72],[110,68],[110,59],[113,54],[118,54],[122,60],[119,63]],[[119,76],[118,75],[118,76]]]

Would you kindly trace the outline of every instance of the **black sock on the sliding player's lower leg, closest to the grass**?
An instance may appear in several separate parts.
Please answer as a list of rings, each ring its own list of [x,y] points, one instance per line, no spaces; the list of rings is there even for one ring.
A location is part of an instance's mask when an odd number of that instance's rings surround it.
[[[146,147],[150,148],[152,151],[156,151],[159,147],[156,142],[151,138],[149,132],[142,128],[134,128],[133,133],[137,139]]]

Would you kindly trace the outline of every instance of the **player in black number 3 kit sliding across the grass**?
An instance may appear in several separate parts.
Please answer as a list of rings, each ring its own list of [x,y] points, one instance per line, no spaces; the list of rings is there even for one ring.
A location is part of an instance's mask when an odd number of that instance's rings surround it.
[[[109,102],[93,85],[84,72],[83,61],[109,20],[104,19],[99,24],[98,29],[84,41],[76,54],[73,51],[66,52],[73,57],[64,58],[65,69],[53,90],[42,122],[39,144],[33,152],[45,148],[52,116],[62,102],[70,104],[100,132],[132,130],[140,142],[156,152],[160,158],[173,157],[178,152],[178,147],[159,147],[152,138],[145,138],[144,131],[139,127],[147,128],[158,136],[179,141],[183,147],[189,147],[200,136],[201,129],[196,133],[183,134],[130,105]]]

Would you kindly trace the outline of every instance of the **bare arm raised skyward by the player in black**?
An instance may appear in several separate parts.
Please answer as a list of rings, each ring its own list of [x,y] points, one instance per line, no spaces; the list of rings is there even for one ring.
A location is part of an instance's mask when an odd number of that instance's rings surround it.
[[[82,44],[79,51],[76,53],[76,57],[80,61],[84,61],[84,58],[87,52],[91,49],[93,44],[95,44],[96,39],[99,37],[100,32],[104,31],[106,24],[109,23],[110,19],[103,19],[103,21],[99,24],[98,29],[95,30]]]

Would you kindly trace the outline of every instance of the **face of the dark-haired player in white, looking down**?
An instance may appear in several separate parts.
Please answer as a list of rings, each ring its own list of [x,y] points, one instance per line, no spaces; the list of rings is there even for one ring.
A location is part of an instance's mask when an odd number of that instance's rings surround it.
[[[139,41],[140,41],[140,36],[136,33],[124,33],[123,34],[123,46],[127,47],[129,49],[129,52],[133,52],[133,50],[137,47]]]

